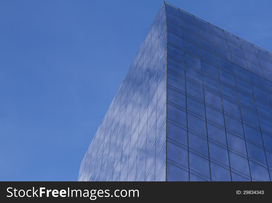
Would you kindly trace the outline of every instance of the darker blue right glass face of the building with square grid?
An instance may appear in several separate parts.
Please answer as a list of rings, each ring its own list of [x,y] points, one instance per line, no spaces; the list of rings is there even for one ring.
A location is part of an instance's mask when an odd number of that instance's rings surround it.
[[[165,10],[167,180],[270,181],[269,53],[168,3]]]

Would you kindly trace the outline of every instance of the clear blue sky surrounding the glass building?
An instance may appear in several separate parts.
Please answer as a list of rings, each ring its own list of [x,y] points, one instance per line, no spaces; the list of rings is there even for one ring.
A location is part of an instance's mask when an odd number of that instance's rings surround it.
[[[0,180],[77,180],[161,0],[0,0]],[[272,1],[169,3],[272,52]]]

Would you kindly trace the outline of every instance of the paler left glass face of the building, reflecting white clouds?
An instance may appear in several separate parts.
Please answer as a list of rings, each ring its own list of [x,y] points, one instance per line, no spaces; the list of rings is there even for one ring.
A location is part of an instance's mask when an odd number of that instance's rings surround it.
[[[166,180],[166,38],[163,5],[81,162],[79,181]]]

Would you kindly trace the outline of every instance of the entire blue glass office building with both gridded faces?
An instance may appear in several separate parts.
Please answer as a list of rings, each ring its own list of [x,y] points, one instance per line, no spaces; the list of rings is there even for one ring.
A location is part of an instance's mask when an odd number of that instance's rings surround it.
[[[79,181],[270,181],[272,53],[166,2]]]

